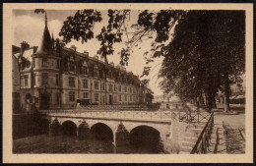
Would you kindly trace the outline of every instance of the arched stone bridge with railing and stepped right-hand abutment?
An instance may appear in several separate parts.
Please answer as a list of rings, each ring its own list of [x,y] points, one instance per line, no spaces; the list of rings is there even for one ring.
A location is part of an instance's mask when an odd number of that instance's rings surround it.
[[[122,152],[118,149],[130,144],[145,146],[145,143],[164,150],[179,150],[191,129],[196,130],[192,131],[193,136],[199,136],[202,131],[202,128],[197,127],[199,120],[201,127],[204,127],[205,122],[202,124],[202,120],[207,121],[209,117],[209,113],[188,112],[179,108],[157,111],[41,110],[40,113],[45,115],[50,135],[104,139],[115,145],[116,152]]]

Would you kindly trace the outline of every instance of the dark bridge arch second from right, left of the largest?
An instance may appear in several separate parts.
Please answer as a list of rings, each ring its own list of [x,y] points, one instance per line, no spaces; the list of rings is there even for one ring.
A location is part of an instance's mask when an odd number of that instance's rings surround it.
[[[113,131],[104,123],[96,123],[90,129],[91,137],[97,140],[113,142]]]

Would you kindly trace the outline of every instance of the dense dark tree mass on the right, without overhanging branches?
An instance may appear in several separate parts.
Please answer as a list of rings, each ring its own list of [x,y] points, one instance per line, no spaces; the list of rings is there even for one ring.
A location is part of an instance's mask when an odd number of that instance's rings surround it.
[[[211,109],[224,85],[228,111],[229,78],[245,68],[244,18],[242,11],[189,11],[175,27],[172,41],[162,47],[161,86],[169,90],[169,84],[185,99],[204,93]]]

